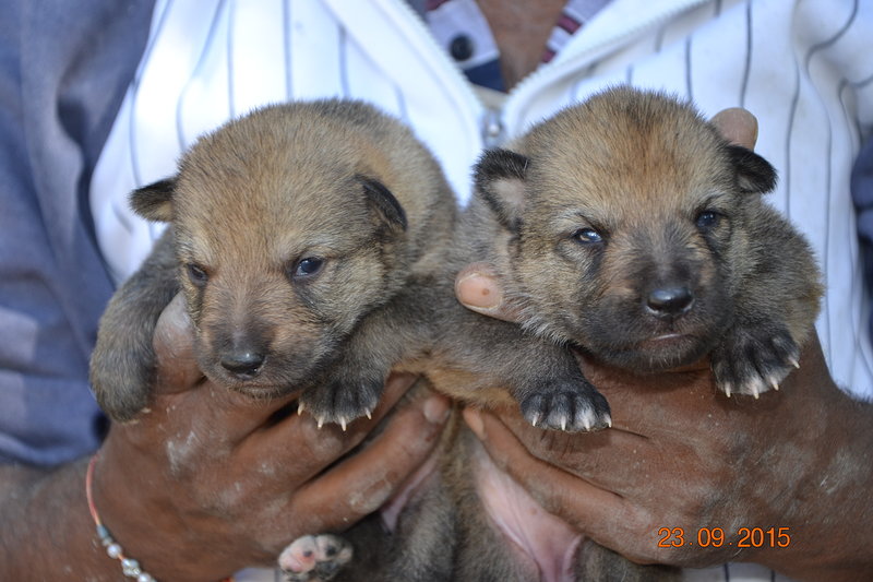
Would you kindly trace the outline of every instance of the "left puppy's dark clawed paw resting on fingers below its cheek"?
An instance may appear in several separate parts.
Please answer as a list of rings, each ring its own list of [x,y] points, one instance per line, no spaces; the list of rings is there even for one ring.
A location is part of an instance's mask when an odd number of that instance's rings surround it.
[[[368,418],[379,404],[384,381],[358,379],[331,379],[326,383],[313,387],[300,396],[300,412],[308,412],[319,424],[319,428],[334,423],[346,429],[346,426],[361,416]]]

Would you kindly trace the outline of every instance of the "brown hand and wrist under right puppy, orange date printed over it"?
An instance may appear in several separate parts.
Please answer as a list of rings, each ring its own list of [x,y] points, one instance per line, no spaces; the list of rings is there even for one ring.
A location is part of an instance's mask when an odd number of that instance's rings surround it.
[[[495,464],[547,511],[643,563],[869,573],[873,418],[834,385],[815,338],[782,390],[760,400],[726,397],[702,365],[645,377],[584,367],[612,406],[611,429],[569,435],[515,411],[464,412]]]

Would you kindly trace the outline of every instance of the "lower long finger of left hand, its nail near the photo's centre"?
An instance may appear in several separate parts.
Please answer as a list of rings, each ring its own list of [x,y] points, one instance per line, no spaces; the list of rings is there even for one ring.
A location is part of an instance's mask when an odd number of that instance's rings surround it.
[[[376,511],[416,470],[435,470],[431,453],[449,412],[449,401],[436,394],[398,409],[371,443],[301,488],[297,511],[319,515],[322,531],[348,527]]]

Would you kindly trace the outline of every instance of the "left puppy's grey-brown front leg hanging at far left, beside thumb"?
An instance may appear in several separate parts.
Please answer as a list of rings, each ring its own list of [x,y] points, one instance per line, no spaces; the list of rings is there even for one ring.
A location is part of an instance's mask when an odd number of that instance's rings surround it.
[[[179,292],[172,246],[168,228],[100,318],[91,358],[91,385],[113,420],[130,420],[148,405],[155,365],[152,336],[160,312]]]

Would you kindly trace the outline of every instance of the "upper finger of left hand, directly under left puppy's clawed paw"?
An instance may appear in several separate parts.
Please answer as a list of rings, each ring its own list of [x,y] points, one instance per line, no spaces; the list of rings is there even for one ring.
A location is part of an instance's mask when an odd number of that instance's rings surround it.
[[[265,425],[244,443],[248,452],[259,460],[276,465],[289,480],[301,483],[313,478],[337,459],[360,444],[379,423],[397,405],[418,377],[393,373],[384,393],[372,412],[372,418],[358,418],[346,430],[330,424],[319,428],[315,419],[296,412],[294,403],[284,411],[287,416]]]

